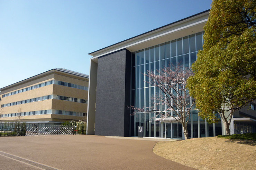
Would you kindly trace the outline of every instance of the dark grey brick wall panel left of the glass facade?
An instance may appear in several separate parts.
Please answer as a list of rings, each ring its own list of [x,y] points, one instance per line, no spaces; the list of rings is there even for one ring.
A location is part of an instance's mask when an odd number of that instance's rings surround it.
[[[95,135],[129,136],[130,56],[123,49],[98,59]]]

